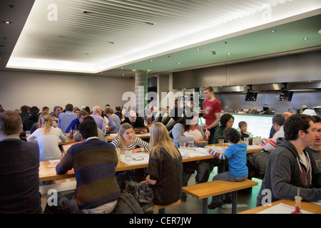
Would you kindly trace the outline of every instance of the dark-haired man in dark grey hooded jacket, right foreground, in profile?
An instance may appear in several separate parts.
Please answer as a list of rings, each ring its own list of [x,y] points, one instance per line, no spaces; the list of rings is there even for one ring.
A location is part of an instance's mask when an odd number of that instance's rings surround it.
[[[257,207],[280,199],[294,200],[300,188],[303,201],[321,199],[321,172],[306,147],[315,139],[314,119],[308,115],[291,115],[285,121],[285,138],[267,161],[265,177],[257,197]]]

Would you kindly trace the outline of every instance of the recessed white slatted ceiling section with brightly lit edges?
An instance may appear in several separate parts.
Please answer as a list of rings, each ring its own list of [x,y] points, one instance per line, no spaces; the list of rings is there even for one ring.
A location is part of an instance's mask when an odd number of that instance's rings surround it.
[[[1,23],[4,36],[9,26],[22,28],[32,2],[1,0],[1,21],[12,20]],[[320,0],[36,0],[19,39],[2,41],[12,48],[2,61],[14,69],[102,73],[315,16],[320,7]]]

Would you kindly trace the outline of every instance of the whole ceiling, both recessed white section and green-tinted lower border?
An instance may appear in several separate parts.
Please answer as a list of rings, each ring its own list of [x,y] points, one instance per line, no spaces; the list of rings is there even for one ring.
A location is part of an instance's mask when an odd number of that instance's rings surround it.
[[[14,18],[23,2],[1,1],[1,10]],[[314,0],[37,0],[8,65],[129,76],[134,68],[177,71],[312,48],[321,44],[320,6]],[[7,28],[1,24],[4,34]]]

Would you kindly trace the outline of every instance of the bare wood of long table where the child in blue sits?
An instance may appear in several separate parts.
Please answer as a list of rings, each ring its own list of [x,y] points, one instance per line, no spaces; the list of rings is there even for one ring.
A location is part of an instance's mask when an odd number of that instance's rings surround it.
[[[71,143],[71,142],[69,142]],[[68,143],[65,143],[68,144]],[[216,145],[216,144],[215,144]],[[211,145],[210,145],[211,146]],[[217,146],[217,145],[216,145]],[[228,145],[224,145],[228,146]],[[249,152],[258,152],[262,151],[262,149],[249,149]],[[193,162],[197,160],[206,160],[213,158],[213,155],[203,155],[198,157],[183,157],[182,162]],[[55,168],[47,168],[50,165],[49,161],[40,162],[39,167],[39,180],[40,181],[50,181],[50,180],[61,180],[65,178],[75,177],[73,172],[67,172],[65,175],[57,175]],[[148,163],[138,164],[138,165],[127,165],[124,162],[118,161],[118,165],[116,166],[116,172],[118,171],[125,171],[125,170],[135,170],[148,167]]]

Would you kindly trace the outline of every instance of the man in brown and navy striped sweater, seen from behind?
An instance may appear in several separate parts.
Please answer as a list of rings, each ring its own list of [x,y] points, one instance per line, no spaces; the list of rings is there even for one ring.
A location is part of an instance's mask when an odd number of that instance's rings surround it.
[[[83,120],[79,132],[84,142],[71,146],[56,166],[59,175],[71,168],[75,170],[76,193],[65,197],[64,206],[68,205],[73,213],[111,213],[120,196],[115,177],[116,150],[98,139],[94,120]]]

